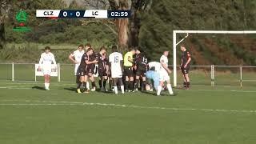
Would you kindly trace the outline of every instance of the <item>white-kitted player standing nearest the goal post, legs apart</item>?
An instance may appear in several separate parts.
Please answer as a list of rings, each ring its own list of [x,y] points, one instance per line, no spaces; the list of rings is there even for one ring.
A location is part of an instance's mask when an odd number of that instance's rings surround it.
[[[174,94],[171,85],[170,85],[170,77],[169,74],[171,73],[171,70],[168,68],[168,54],[169,51],[164,51],[161,58],[160,58],[160,62],[161,62],[161,69],[160,69],[160,85],[158,86],[158,95],[160,95],[161,90],[162,90],[162,86],[164,85],[164,82],[167,83],[167,89],[169,91],[169,94]]]

